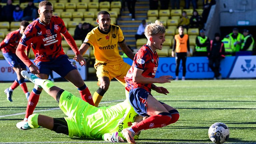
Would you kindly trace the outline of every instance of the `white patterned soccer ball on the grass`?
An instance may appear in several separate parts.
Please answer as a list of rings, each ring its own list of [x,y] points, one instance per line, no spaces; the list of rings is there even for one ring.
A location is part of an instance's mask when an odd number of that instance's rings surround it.
[[[214,123],[208,130],[208,136],[214,143],[221,144],[228,140],[229,129],[224,123]]]

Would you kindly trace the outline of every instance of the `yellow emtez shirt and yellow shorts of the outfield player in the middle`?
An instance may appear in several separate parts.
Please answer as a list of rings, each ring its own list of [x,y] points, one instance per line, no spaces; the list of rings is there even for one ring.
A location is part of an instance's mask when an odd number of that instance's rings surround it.
[[[95,56],[94,67],[97,70],[97,77],[116,78],[121,84],[125,84],[124,76],[130,69],[119,55],[118,43],[124,42],[124,36],[119,26],[110,24],[109,31],[104,32],[95,27],[89,32],[84,43],[93,45]]]

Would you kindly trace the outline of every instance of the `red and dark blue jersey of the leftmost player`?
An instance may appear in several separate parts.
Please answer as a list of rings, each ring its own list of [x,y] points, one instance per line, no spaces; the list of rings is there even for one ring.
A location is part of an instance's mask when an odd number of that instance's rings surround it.
[[[11,52],[15,53],[19,44],[21,35],[20,30],[15,30],[7,34],[5,39],[0,43],[0,48],[3,53]]]

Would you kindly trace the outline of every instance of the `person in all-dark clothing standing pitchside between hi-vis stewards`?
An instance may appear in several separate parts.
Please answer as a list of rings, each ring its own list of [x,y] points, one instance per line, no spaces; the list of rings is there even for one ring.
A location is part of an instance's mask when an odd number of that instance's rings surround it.
[[[215,33],[214,40],[211,40],[211,46],[208,51],[209,67],[214,72],[214,80],[221,79],[220,74],[220,60],[225,58],[225,49],[223,43],[220,41],[220,34]]]

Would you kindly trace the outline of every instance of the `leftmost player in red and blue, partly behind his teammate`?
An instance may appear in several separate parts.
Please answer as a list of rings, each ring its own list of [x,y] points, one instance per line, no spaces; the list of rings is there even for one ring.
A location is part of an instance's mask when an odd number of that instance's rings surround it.
[[[29,97],[28,88],[24,81],[25,79],[20,74],[22,70],[26,70],[27,68],[26,65],[15,54],[20,38],[28,25],[29,22],[27,21],[20,22],[20,28],[18,30],[8,33],[5,39],[0,43],[0,49],[3,52],[5,60],[9,63],[9,65],[12,67],[12,69],[15,71],[17,75],[17,78],[12,83],[12,85],[4,90],[4,93],[7,96],[7,100],[10,102],[12,102],[12,92],[18,86],[21,87],[21,89],[26,95],[26,98],[28,99]],[[26,51],[28,52],[27,49]]]

